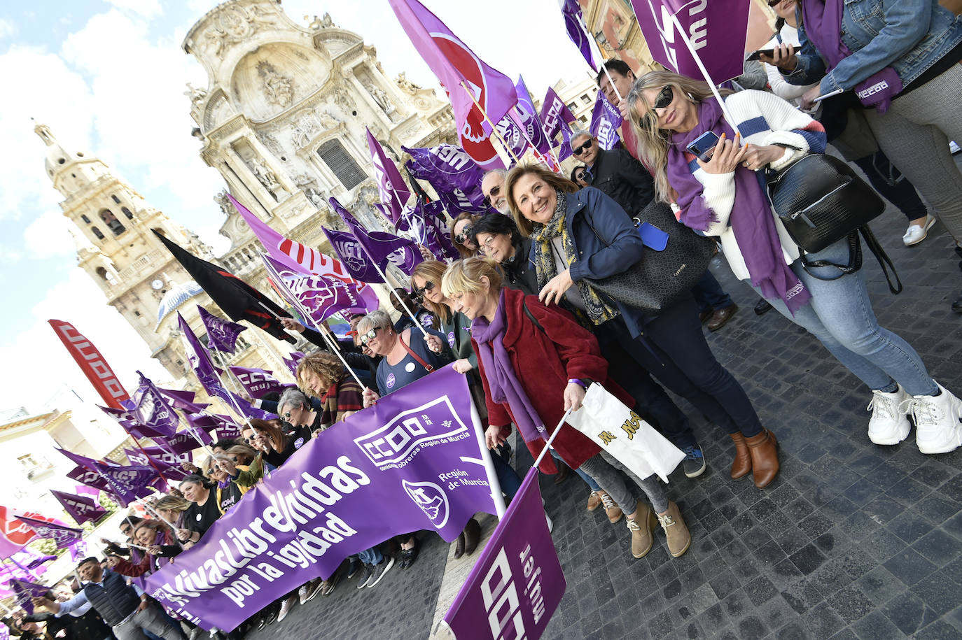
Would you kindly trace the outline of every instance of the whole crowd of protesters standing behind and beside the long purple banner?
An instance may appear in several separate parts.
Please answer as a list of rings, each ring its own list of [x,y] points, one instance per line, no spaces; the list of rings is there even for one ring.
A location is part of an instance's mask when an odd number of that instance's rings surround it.
[[[847,242],[809,255],[823,262],[805,268],[757,178],[763,169],[823,153],[831,143],[906,216],[906,246],[922,242],[938,219],[962,257],[962,181],[949,155],[949,139],[962,140],[962,25],[934,0],[905,0],[898,9],[865,14],[865,6],[877,4],[772,0],[779,16],[772,53],[750,74],[746,67],[747,76],[760,76],[763,84],[767,74],[766,90],[721,90],[734,122],[704,82],[667,71],[636,78],[624,62],[606,62],[597,81],[625,116],[620,147],[601,149],[594,135],[575,131],[570,144],[580,164],[570,179],[538,164],[487,173],[481,189],[497,212],[452,219],[451,240],[462,258],[418,264],[410,291],[393,291],[399,320],[385,310],[350,319],[349,369],[324,351],[317,332],[286,321],[321,350],[300,361],[296,387],[254,402],[278,419],[252,419],[240,439],[215,443],[200,468],[190,466],[193,473],[177,495],[156,502],[155,517],[126,519],[129,547],[112,544],[106,566],[96,558],[78,565],[76,595],[67,590],[35,599],[48,612],[10,624],[21,638],[32,637],[42,621],[48,630],[89,629],[75,637],[110,637],[112,631],[121,639],[139,637],[140,629],[149,637],[181,638],[184,631],[195,637],[198,629],[182,621],[182,630],[150,602],[138,580],[176,562],[319,433],[449,363],[468,379],[508,500],[525,471],[510,463],[510,433],[517,429],[537,457],[548,435],[544,426],[578,409],[593,383],[664,433],[685,455],[683,473],[697,478],[708,462],[689,418],[666,389],[685,398],[734,443],[730,478],[750,475],[765,489],[780,467],[774,431],[790,425],[784,418],[763,424],[742,384],[712,353],[702,326],[718,331],[738,310],[721,285],[706,272],[654,314],[597,284],[646,259],[636,224],[651,206],[671,207],[685,226],[673,233],[715,238],[733,274],[761,297],[756,312],[774,308],[865,383],[871,442],[898,445],[914,426],[922,453],[958,448],[962,402],[932,380],[908,342],[879,326],[861,271],[832,266],[848,260]],[[850,89],[875,77],[888,78],[897,90],[865,108]],[[836,89],[844,92],[815,103]],[[686,145],[709,131],[719,142],[710,155],[695,158]],[[953,309],[962,310],[962,299]],[[651,550],[659,526],[672,556],[691,546],[678,506],[683,495],[654,476],[637,477],[563,425],[539,470],[555,475],[568,469],[588,484],[589,510],[603,505],[612,523],[624,517],[626,551],[634,557]],[[471,519],[455,557],[471,554],[479,541],[480,527]],[[294,603],[330,594],[341,579],[357,575],[357,588],[374,587],[395,564],[412,566],[420,544],[418,532],[406,532],[347,558],[331,578],[275,594],[274,603],[233,635],[283,620]]]

